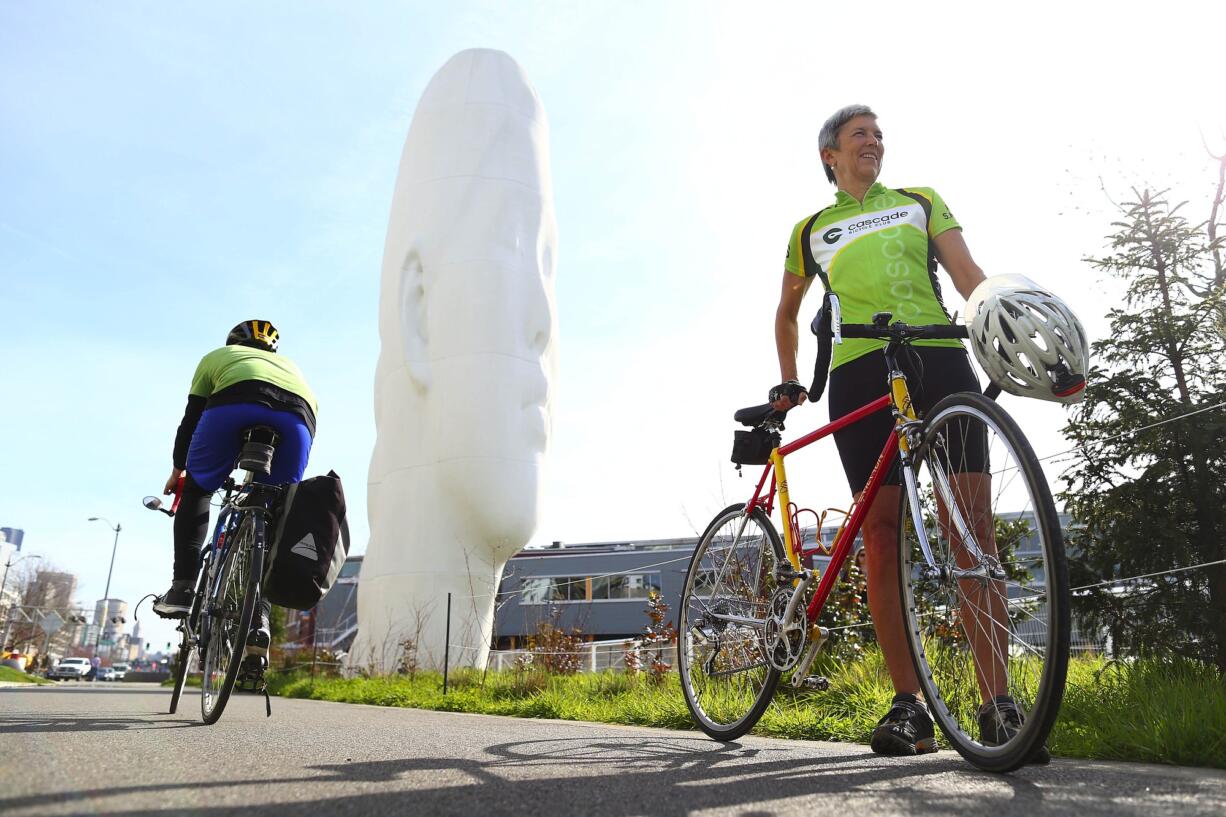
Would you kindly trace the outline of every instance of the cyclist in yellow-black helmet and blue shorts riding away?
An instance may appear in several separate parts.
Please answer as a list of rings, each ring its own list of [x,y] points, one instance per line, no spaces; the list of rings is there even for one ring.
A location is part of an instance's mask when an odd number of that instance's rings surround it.
[[[277,355],[280,335],[267,320],[244,320],[229,331],[226,346],[200,361],[188,391],[188,407],[174,439],[174,469],[164,493],[183,478],[174,518],[174,580],[153,604],[164,618],[191,612],[200,550],[208,534],[208,501],[230,471],[243,447],[242,433],[268,426],[280,435],[267,476],[270,485],[299,482],[315,437],[318,404],[293,361]],[[268,653],[270,605],[261,600],[260,618],[248,635],[246,654]]]

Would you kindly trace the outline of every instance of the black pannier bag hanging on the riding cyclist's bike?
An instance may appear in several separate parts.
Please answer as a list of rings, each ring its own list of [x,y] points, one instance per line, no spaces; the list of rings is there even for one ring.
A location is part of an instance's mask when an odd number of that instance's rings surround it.
[[[310,610],[336,581],[348,552],[345,491],[336,471],[289,486],[268,548],[264,597]]]

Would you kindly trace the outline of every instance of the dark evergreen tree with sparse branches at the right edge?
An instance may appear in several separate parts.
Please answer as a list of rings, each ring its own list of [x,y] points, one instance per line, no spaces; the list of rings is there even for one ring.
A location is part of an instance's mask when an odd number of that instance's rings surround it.
[[[1226,558],[1226,407],[1192,413],[1226,401],[1222,189],[1199,224],[1186,205],[1134,190],[1110,253],[1087,259],[1124,281],[1127,297],[1094,343],[1085,400],[1065,428],[1078,444],[1062,476],[1074,586]],[[1106,627],[1117,650],[1173,651],[1226,672],[1226,566],[1095,588],[1074,611]]]

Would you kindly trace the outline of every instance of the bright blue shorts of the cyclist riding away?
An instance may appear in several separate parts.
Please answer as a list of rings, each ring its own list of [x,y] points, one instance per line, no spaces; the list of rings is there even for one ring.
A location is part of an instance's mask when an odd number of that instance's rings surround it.
[[[270,426],[281,439],[272,455],[272,474],[257,482],[288,485],[299,482],[310,456],[310,429],[292,411],[277,411],[255,402],[234,402],[206,408],[196,423],[188,449],[188,474],[201,488],[213,492],[234,470],[243,449],[243,431],[251,426]]]

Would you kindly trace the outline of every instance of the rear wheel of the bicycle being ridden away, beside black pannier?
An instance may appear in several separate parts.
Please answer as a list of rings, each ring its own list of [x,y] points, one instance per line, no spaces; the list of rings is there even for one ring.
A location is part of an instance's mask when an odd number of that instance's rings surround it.
[[[260,589],[264,519],[257,513],[244,514],[237,530],[233,543],[227,547],[226,561],[218,572],[217,584],[210,596],[210,608],[205,613],[212,617],[200,685],[200,714],[206,724],[217,723],[234,691]],[[246,570],[246,574],[243,575],[242,570]],[[237,593],[239,588],[242,597]],[[227,626],[227,622],[233,621],[237,621],[235,626]],[[218,666],[221,659],[226,661],[224,667]]]

